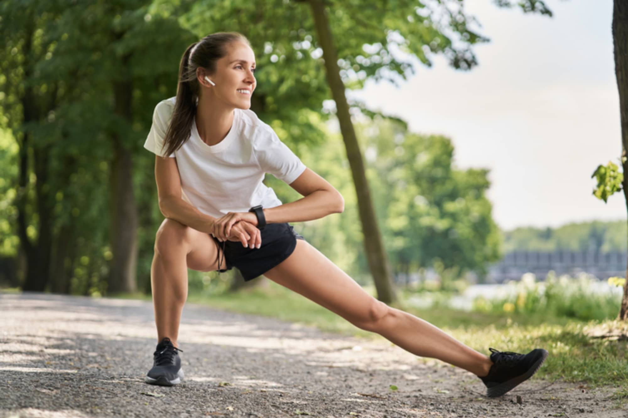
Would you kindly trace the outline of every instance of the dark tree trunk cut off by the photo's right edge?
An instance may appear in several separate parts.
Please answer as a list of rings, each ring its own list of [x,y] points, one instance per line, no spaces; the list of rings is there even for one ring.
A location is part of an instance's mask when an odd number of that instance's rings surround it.
[[[628,3],[615,0],[613,8],[613,43],[615,48],[615,76],[619,90],[619,112],[622,123],[622,167],[624,169],[624,197],[628,211]],[[626,271],[628,278],[628,271]],[[624,285],[624,298],[619,312],[620,320],[628,320],[628,280]]]

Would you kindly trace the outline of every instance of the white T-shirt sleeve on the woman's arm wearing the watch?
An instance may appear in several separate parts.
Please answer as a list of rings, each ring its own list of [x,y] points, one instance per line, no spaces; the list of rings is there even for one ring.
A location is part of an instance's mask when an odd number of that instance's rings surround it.
[[[273,128],[261,128],[264,133],[255,141],[255,156],[259,167],[287,184],[295,181],[305,171],[303,162],[288,145],[281,142]]]

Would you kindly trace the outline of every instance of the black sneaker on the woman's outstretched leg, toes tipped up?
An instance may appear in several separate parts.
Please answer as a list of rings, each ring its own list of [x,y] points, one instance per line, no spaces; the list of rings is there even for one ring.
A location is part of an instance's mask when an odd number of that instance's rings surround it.
[[[490,361],[494,364],[488,375],[480,377],[486,385],[486,395],[489,398],[501,396],[530,379],[548,357],[548,352],[543,348],[536,348],[528,354],[500,352],[495,348],[489,350],[492,353]]]

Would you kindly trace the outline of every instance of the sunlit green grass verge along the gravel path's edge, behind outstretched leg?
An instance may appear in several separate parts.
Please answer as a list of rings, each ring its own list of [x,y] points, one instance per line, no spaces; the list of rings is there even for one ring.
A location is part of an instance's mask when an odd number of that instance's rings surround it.
[[[340,316],[272,282],[266,288],[237,293],[190,295],[188,301],[222,310],[271,316],[328,332],[382,338],[354,327]],[[539,378],[583,382],[588,387],[612,385],[619,390],[618,394],[628,391],[626,342],[590,338],[587,334],[591,328],[600,326],[624,327],[624,333],[628,333],[628,324],[583,322],[546,315],[465,312],[450,308],[400,308],[433,323],[479,352],[488,353],[489,347],[514,352],[545,348],[549,358],[536,375]]]

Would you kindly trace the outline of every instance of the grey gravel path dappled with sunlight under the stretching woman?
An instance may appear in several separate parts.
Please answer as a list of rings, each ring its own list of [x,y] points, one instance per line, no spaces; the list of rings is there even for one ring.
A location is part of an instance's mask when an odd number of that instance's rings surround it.
[[[151,303],[0,293],[0,416],[628,416],[612,388],[532,380],[487,399],[474,375],[384,338],[192,304],[181,324],[186,379],[156,387],[143,382],[156,344]]]

